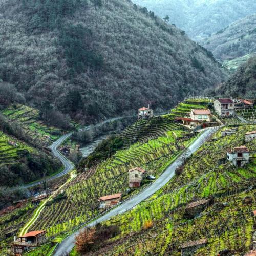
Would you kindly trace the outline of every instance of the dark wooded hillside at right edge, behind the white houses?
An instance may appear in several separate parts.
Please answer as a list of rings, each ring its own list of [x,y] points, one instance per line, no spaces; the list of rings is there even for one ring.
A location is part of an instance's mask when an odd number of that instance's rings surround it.
[[[216,94],[222,96],[255,98],[256,95],[256,57],[241,65],[226,83],[216,88]]]

